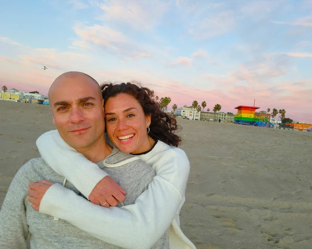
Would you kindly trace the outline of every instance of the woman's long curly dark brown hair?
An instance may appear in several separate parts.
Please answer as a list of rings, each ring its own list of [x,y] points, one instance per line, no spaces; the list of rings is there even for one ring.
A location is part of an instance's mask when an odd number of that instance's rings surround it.
[[[112,83],[104,82],[101,84],[104,106],[110,97],[119,93],[126,93],[139,101],[145,115],[151,114],[151,124],[149,125],[149,136],[154,140],[160,140],[168,145],[178,147],[182,139],[174,131],[180,128],[175,117],[171,117],[160,109],[159,103],[154,100],[154,91],[139,86],[138,82]]]

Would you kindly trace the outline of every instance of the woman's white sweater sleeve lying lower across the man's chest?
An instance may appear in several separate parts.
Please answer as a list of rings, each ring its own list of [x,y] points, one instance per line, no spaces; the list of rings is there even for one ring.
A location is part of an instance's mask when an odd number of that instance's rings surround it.
[[[66,220],[107,243],[127,249],[147,249],[169,228],[180,202],[172,185],[155,176],[134,204],[120,208],[103,208],[54,184],[43,196],[39,212]]]

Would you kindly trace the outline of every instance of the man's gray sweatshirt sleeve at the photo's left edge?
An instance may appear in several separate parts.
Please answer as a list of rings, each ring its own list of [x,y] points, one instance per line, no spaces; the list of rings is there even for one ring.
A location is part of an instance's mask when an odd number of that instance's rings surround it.
[[[0,248],[27,249],[28,225],[24,204],[27,192],[21,179],[22,170],[13,178],[0,210]]]

